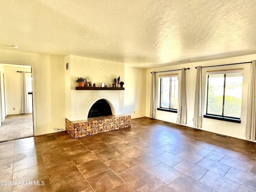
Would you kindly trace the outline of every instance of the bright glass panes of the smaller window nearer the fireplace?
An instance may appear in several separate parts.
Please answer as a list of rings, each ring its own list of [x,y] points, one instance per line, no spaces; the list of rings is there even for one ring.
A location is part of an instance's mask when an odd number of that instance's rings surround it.
[[[178,77],[161,78],[160,107],[168,109],[178,108]]]

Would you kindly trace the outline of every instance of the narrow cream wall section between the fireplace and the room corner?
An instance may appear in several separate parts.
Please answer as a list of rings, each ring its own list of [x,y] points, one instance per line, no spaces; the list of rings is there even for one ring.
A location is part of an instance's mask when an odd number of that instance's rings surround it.
[[[130,115],[132,119],[144,117],[146,69],[125,66],[124,76],[124,113]]]

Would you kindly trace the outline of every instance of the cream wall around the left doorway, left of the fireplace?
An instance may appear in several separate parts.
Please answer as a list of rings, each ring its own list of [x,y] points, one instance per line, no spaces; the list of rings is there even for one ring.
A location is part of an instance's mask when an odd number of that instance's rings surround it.
[[[64,58],[0,49],[0,63],[32,66],[35,135],[65,129]]]

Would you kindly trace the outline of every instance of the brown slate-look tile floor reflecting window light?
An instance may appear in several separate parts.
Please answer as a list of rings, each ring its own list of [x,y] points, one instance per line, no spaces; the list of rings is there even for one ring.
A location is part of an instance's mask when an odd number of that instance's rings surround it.
[[[0,191],[256,191],[255,142],[150,118],[131,124],[80,139],[60,132],[0,143]]]

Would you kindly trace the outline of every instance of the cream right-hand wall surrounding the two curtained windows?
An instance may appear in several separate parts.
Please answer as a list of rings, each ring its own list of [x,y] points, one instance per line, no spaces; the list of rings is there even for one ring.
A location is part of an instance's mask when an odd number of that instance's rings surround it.
[[[176,70],[181,68],[188,68],[186,70],[186,94],[187,94],[187,126],[193,127],[193,116],[194,116],[194,94],[195,94],[195,82],[196,82],[196,66],[213,66],[221,64],[231,64],[239,62],[250,62],[256,59],[256,54],[248,56],[240,56],[234,58],[225,58],[219,60],[210,60],[205,62],[187,63],[176,66],[168,66],[162,68],[151,68],[146,72],[146,116],[150,116],[150,90],[151,90],[151,74],[152,71],[165,71],[165,70]],[[241,109],[241,124],[226,122],[214,119],[203,118],[202,130],[232,136],[236,138],[245,139],[244,132],[246,126],[246,110],[247,110],[247,93],[248,93],[248,81],[250,75],[250,64],[239,64],[231,66],[219,66],[211,68],[202,68],[202,107],[203,114],[205,114],[205,93],[206,93],[206,72],[209,70],[223,70],[223,69],[235,69],[244,68],[244,79],[242,89],[242,109]],[[174,71],[173,73],[179,74],[180,71]],[[169,72],[172,73],[172,72]],[[157,73],[159,75],[160,73]],[[158,80],[158,78],[156,78]],[[157,83],[158,85],[158,83]],[[158,90],[158,86],[156,86]],[[156,96],[156,98],[158,98]],[[156,101],[156,105],[159,106],[159,102]],[[156,111],[156,119],[176,123],[177,114],[164,111]]]

